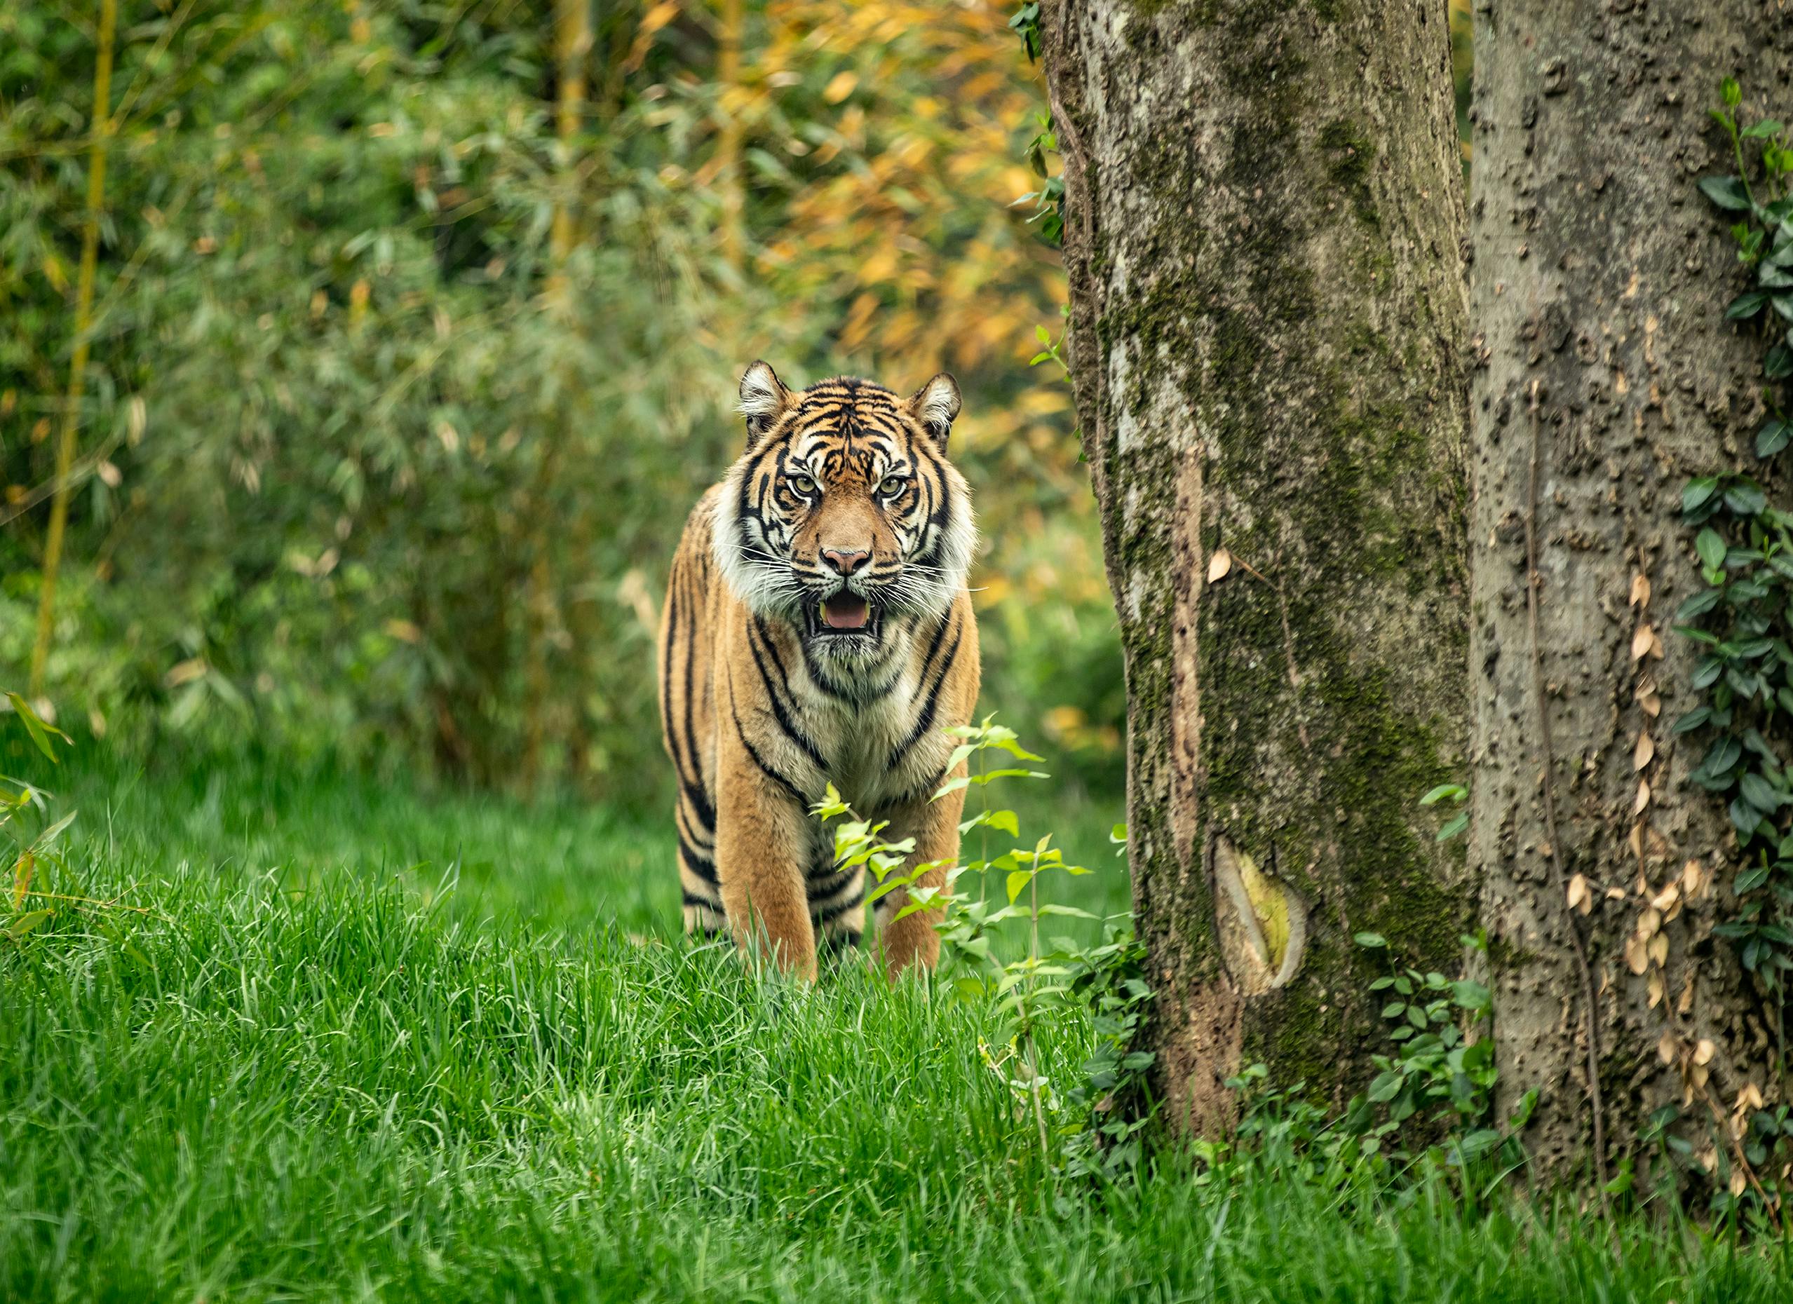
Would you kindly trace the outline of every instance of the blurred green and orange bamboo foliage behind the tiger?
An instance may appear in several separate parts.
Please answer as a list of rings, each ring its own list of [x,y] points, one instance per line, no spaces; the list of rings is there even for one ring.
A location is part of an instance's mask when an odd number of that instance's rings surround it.
[[[957,373],[986,709],[1113,793],[1121,664],[1008,9],[117,0],[0,13],[0,682],[251,748],[665,791],[653,626],[746,362]]]

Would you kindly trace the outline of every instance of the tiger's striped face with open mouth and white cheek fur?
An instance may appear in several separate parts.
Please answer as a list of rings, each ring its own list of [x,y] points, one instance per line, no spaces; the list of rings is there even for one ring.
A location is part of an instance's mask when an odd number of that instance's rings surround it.
[[[886,621],[943,613],[972,561],[970,493],[947,461],[959,387],[909,398],[868,380],[789,391],[766,362],[741,378],[748,452],[715,513],[715,560],[760,615],[823,655],[866,656]]]

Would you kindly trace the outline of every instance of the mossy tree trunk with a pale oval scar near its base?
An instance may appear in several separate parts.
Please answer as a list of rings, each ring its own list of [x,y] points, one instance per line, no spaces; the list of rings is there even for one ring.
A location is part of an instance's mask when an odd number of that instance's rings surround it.
[[[1364,1078],[1382,933],[1474,906],[1461,161],[1443,5],[1060,0],[1072,380],[1128,674],[1156,1092]]]

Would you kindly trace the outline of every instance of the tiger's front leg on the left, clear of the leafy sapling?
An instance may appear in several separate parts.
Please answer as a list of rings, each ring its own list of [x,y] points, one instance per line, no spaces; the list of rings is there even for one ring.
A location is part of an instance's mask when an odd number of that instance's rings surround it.
[[[717,755],[715,872],[735,943],[816,981],[816,927],[805,868],[810,818],[801,793],[728,716]]]

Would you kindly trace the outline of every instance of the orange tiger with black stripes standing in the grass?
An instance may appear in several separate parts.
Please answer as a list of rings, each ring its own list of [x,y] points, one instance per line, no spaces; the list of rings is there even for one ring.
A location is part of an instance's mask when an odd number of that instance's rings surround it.
[[[660,615],[660,723],[689,935],[816,981],[862,943],[866,870],[836,863],[812,814],[832,784],[914,850],[896,874],[934,906],[875,900],[895,979],[940,958],[934,924],[959,854],[965,775],[945,730],[977,705],[966,578],[977,531],[947,459],[959,386],[907,398],[839,377],[793,391],[764,361],[741,377],[746,448],[685,522]]]

